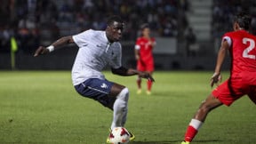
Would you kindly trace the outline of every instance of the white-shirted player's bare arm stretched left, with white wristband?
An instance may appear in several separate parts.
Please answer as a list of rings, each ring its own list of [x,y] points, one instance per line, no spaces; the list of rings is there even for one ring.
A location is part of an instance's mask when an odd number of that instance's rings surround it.
[[[50,52],[52,52],[56,49],[60,49],[61,46],[63,46],[63,45],[72,44],[72,43],[74,43],[74,40],[73,40],[72,36],[61,37],[60,39],[58,39],[56,42],[52,43],[48,47],[39,46],[36,49],[36,52],[34,53],[34,57],[36,57],[38,55],[50,53]]]

